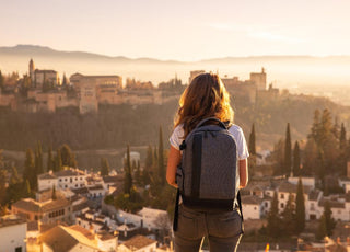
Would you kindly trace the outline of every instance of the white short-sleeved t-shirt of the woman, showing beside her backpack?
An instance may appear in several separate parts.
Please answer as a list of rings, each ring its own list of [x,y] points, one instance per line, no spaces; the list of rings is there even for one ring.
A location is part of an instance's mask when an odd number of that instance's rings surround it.
[[[245,137],[244,137],[242,128],[234,124],[229,128],[229,131],[233,135],[234,139],[236,140],[238,159],[243,160],[243,159],[248,158],[249,152],[248,152],[247,144],[245,141]],[[174,129],[174,131],[168,140],[175,149],[179,150],[179,145],[184,140],[183,125],[178,125]]]

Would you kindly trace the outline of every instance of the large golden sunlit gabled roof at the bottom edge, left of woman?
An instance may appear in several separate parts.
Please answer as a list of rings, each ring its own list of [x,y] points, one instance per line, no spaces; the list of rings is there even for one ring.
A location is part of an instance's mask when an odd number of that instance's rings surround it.
[[[69,251],[79,243],[100,251],[84,234],[63,226],[57,226],[48,230],[39,237],[39,240],[54,251]]]

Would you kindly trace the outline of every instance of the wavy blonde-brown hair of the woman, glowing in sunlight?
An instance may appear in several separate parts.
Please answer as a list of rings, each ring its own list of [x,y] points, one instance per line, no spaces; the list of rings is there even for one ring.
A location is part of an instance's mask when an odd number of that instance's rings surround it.
[[[186,138],[203,118],[217,117],[232,125],[233,116],[230,94],[220,77],[214,73],[202,73],[197,76],[182,94],[174,127],[183,124]]]

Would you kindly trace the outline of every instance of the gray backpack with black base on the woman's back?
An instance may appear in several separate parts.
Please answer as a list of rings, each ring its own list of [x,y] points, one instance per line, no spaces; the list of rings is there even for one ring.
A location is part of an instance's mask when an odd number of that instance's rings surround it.
[[[180,150],[176,182],[184,205],[200,210],[233,210],[240,181],[238,158],[236,141],[225,124],[214,117],[202,119]]]

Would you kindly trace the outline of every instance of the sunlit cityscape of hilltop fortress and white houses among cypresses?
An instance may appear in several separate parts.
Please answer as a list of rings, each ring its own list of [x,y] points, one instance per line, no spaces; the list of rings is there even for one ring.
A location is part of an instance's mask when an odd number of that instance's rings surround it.
[[[197,75],[189,73],[190,82]],[[248,80],[222,77],[230,93],[256,106],[261,101],[296,99],[267,85],[267,73]],[[60,79],[55,70],[0,72],[0,106],[5,113],[55,114],[75,110],[98,114],[103,105],[164,105],[185,90],[176,76],[156,87],[117,75],[74,73]],[[300,98],[298,98],[300,99]],[[240,101],[240,100],[238,100]],[[327,108],[314,112],[305,141],[292,145],[291,125],[271,149],[257,148],[255,124],[247,135],[250,157],[248,186],[243,190],[245,234],[240,251],[271,249],[316,251],[349,249],[350,146],[346,126]],[[127,146],[121,167],[81,168],[68,145],[28,148],[22,172],[0,152],[0,244],[4,251],[173,251],[175,191],[166,185],[164,148],[142,154]],[[43,153],[44,150],[47,151]],[[131,149],[131,150],[130,150]],[[282,232],[283,229],[283,232]],[[205,244],[206,249],[206,244]],[[1,250],[2,251],[2,250]]]

